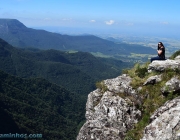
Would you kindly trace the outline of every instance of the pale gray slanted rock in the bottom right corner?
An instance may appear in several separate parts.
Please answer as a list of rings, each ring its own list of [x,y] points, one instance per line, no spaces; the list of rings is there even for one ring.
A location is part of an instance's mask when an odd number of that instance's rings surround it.
[[[151,116],[141,140],[180,139],[180,97],[166,102]]]

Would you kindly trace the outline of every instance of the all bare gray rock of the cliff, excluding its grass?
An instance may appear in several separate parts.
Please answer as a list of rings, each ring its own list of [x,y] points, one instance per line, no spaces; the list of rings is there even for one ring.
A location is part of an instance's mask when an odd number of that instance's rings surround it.
[[[180,57],[175,60],[153,61],[148,66],[148,72],[158,71],[159,75],[149,74],[150,77],[144,84],[136,89],[130,86],[132,78],[126,74],[104,80],[104,89],[98,88],[88,95],[86,122],[80,129],[77,140],[123,140],[127,131],[142,117],[135,105],[141,104],[141,99],[146,98],[138,94],[142,88],[161,82],[164,84],[160,88],[162,96],[179,93],[178,73],[169,80],[162,81],[165,69],[180,70]],[[180,96],[167,101],[151,115],[141,140],[176,139],[180,139]]]

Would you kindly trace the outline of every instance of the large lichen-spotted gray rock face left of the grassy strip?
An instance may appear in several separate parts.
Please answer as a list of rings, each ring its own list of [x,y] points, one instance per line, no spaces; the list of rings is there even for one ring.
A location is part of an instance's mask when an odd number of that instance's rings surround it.
[[[136,94],[129,86],[131,78],[122,75],[104,81],[108,90],[100,89],[88,95],[86,123],[81,128],[77,140],[121,140],[128,129],[138,122],[141,112],[133,102],[118,96],[118,93]]]

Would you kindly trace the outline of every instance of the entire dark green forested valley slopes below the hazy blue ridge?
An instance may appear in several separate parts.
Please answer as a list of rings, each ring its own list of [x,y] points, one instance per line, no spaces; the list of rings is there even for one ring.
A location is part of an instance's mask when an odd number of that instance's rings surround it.
[[[131,66],[87,52],[15,48],[0,39],[0,132],[75,139],[95,83]]]

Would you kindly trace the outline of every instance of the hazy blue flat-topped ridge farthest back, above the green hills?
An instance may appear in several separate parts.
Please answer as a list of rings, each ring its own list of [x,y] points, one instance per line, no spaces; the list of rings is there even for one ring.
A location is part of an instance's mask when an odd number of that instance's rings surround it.
[[[116,44],[93,35],[69,36],[27,28],[16,19],[0,19],[0,38],[15,47],[101,52],[108,55],[146,53],[154,49],[141,45]]]

